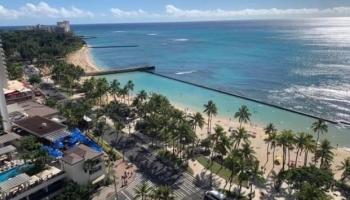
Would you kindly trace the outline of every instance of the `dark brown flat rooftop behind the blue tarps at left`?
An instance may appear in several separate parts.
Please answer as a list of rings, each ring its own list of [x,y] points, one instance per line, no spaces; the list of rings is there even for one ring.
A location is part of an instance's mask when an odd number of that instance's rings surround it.
[[[55,133],[62,133],[65,135],[67,127],[63,124],[54,122],[40,116],[29,117],[27,119],[14,122],[19,128],[37,136],[45,137]],[[64,135],[62,137],[64,137]]]

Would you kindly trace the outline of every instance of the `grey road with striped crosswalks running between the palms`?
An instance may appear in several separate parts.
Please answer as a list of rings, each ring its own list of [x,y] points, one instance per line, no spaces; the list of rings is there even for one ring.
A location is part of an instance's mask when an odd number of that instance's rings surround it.
[[[147,138],[143,138],[142,134],[137,136],[135,137],[133,134],[132,136],[124,136],[118,144],[113,142],[110,135],[104,137],[119,151],[124,150],[125,157],[139,169],[135,180],[119,191],[118,199],[134,199],[134,188],[144,181],[151,186],[171,186],[176,199],[197,200],[204,198],[205,190],[196,186],[193,176],[159,161],[155,153],[149,150]]]

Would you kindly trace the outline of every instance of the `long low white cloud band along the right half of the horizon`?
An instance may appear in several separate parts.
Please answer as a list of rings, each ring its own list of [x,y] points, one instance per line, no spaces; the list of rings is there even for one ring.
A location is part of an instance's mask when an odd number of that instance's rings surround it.
[[[350,7],[335,7],[327,9],[301,8],[301,9],[243,9],[243,10],[184,10],[174,5],[167,5],[165,11],[168,15],[177,18],[244,18],[244,17],[322,17],[322,16],[350,16]]]

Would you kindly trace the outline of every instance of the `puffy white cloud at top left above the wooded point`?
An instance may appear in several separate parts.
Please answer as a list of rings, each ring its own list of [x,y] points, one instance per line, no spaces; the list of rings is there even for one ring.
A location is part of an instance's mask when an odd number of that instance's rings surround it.
[[[0,19],[17,19],[19,17],[80,18],[93,16],[92,12],[84,11],[74,6],[70,8],[55,8],[43,1],[38,4],[26,3],[16,10],[10,10],[0,5]]]

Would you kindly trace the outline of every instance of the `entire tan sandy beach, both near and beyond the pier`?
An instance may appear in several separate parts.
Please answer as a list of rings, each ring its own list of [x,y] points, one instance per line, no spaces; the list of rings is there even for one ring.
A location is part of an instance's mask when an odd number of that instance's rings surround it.
[[[74,65],[81,66],[86,72],[92,72],[92,71],[99,70],[98,66],[96,66],[96,64],[94,63],[92,56],[91,56],[91,53],[90,53],[90,50],[87,46],[84,46],[82,49],[70,54],[67,57],[67,61],[69,63],[74,64]],[[113,100],[113,98],[110,97],[109,101],[111,101],[111,100]],[[188,109],[188,107],[186,105],[181,105],[181,104],[178,104],[176,102],[171,102],[171,103],[175,107],[177,107],[178,109],[186,112],[187,114],[194,113],[194,111]],[[205,117],[204,114],[203,114],[203,116]],[[205,119],[205,121],[207,121],[207,119]],[[215,116],[213,118],[212,124],[213,124],[213,127],[216,124],[222,126],[228,135],[230,135],[230,133],[228,132],[229,129],[232,129],[232,128],[236,129],[239,126],[238,121],[236,119],[233,119],[233,117],[226,118],[226,117],[222,117],[220,115]],[[272,149],[269,149],[269,152],[270,152],[269,162],[266,163],[267,144],[264,142],[264,138],[266,137],[265,133],[264,133],[264,126],[265,125],[256,124],[254,121],[249,123],[249,124],[244,124],[244,127],[246,128],[246,130],[250,133],[250,135],[252,135],[250,140],[251,140],[251,145],[254,147],[254,150],[256,152],[256,157],[260,161],[260,165],[264,168],[265,174],[269,175],[272,171],[278,172],[281,169],[281,165],[275,165],[275,167],[273,168]],[[200,139],[206,138],[208,136],[206,127],[203,127],[202,130],[198,129],[196,134],[197,134],[198,138],[200,138]],[[331,133],[329,133],[329,134],[331,134]],[[296,157],[295,151],[296,150],[293,150],[290,154],[291,161],[295,160],[295,157]],[[276,148],[275,157],[276,156],[282,157],[282,150],[280,147]],[[309,155],[309,156],[310,157],[308,158],[308,162],[311,162],[313,155]],[[334,149],[334,161],[332,164],[332,169],[334,171],[336,179],[339,179],[341,176],[341,171],[338,171],[336,169],[340,165],[341,161],[343,161],[347,157],[350,157],[350,150],[349,149],[335,147],[335,149]],[[303,162],[304,162],[304,153],[302,153],[299,156],[297,165],[301,166],[301,165],[303,165]],[[194,169],[194,173],[196,175],[196,174],[200,173],[200,171]]]

